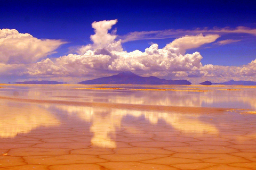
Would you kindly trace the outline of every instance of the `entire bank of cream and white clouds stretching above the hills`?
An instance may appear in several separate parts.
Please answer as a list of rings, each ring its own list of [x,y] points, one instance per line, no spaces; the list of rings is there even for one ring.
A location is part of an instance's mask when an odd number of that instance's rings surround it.
[[[201,63],[203,57],[200,53],[186,54],[187,49],[214,43],[225,31],[256,35],[253,29],[239,27],[234,30],[229,28],[193,30],[195,35],[188,33],[188,35],[180,36],[163,48],[152,44],[143,52],[140,50],[126,52],[123,50],[122,43],[135,40],[138,35],[157,34],[157,31],[130,33],[130,35],[135,35],[135,38],[126,36],[126,39],[120,39],[116,35],[116,29],[109,33],[116,23],[117,20],[93,22],[92,28],[95,34],[90,37],[92,44],[77,48],[77,54],[68,54],[58,58],[46,57],[54,53],[60,45],[65,44],[61,40],[43,40],[28,33],[19,33],[17,30],[0,30],[0,75],[23,75],[27,78],[41,77],[54,78],[54,80],[83,78],[84,80],[121,71],[134,71],[144,76],[198,79],[198,82],[201,82],[201,79],[212,79],[216,82],[216,80],[230,80],[231,78],[241,80],[256,78],[256,60],[242,66],[203,65]],[[177,32],[185,33],[186,31],[176,30],[176,36]],[[162,35],[167,35],[167,33],[168,31],[162,31]],[[227,39],[215,44],[225,45],[237,41],[239,40]]]

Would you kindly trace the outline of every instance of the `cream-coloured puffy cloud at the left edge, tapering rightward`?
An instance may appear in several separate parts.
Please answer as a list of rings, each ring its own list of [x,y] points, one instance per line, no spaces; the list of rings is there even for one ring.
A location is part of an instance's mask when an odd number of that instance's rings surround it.
[[[0,63],[34,63],[54,53],[62,44],[65,42],[61,40],[41,40],[15,29],[0,29]]]

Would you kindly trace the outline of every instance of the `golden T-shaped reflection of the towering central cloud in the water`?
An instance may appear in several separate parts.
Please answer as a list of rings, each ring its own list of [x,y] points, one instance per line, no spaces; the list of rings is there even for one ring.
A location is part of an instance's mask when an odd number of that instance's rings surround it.
[[[115,138],[117,128],[125,128],[125,125],[121,125],[121,122],[126,116],[145,117],[153,125],[156,125],[159,120],[163,120],[182,133],[197,132],[203,134],[205,132],[212,132],[218,134],[218,129],[214,125],[204,123],[199,120],[199,116],[194,115],[84,106],[59,105],[55,107],[68,112],[69,115],[76,115],[81,120],[91,122],[90,130],[94,133],[91,143],[96,147],[116,147],[116,142],[113,138]],[[128,129],[131,129],[131,127],[129,126]],[[140,132],[140,130],[133,130],[133,133],[136,132]]]

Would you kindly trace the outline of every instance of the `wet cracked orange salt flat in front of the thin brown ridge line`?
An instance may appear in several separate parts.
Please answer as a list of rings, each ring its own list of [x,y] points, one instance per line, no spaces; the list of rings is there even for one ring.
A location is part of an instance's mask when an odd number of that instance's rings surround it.
[[[147,96],[138,102],[143,98]],[[236,101],[247,99],[238,96]],[[156,112],[140,106],[120,109],[1,99],[0,168],[255,169],[255,114],[230,107]]]

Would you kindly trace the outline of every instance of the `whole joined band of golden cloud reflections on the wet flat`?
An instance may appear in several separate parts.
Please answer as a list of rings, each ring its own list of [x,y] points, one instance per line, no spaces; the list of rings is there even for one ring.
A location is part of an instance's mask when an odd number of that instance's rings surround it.
[[[37,105],[13,101],[3,101],[1,108],[5,110],[5,113],[0,114],[1,138],[13,138],[19,133],[29,133],[40,126],[65,125],[74,118],[79,120],[76,121],[76,125],[79,124],[81,127],[85,123],[90,125],[90,132],[93,133],[91,139],[93,147],[115,148],[117,129],[125,129],[129,133],[136,134],[141,133],[143,126],[157,128],[158,122],[165,122],[172,131],[183,134],[219,133],[215,125],[202,121],[201,117],[196,115],[71,105]],[[63,114],[69,118],[61,118]],[[140,128],[138,124],[128,121],[137,118],[140,118],[142,123]]]

